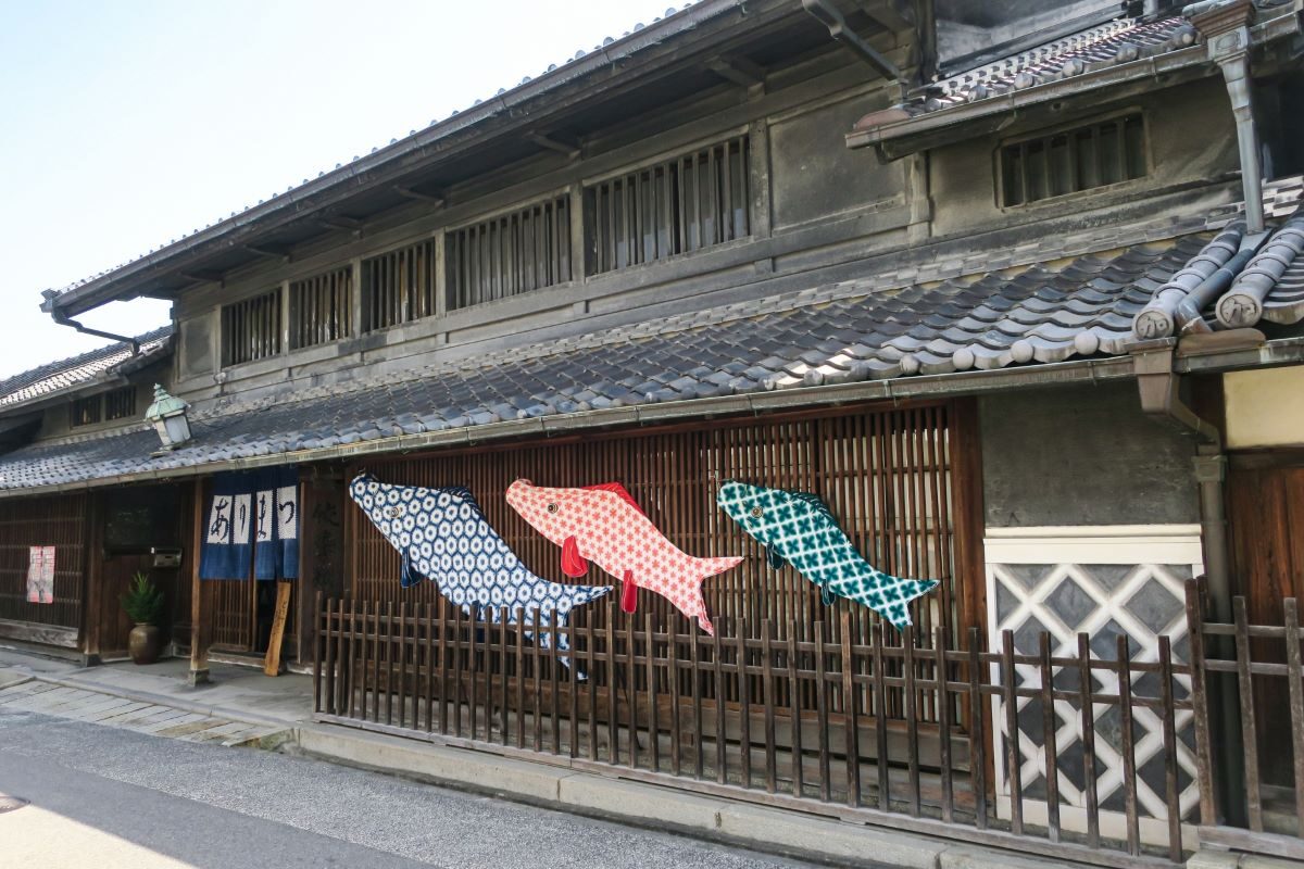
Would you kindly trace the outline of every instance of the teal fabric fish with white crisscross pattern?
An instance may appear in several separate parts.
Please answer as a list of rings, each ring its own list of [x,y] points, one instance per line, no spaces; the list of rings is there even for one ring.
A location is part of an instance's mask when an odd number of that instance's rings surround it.
[[[765,547],[769,565],[790,563],[820,586],[824,606],[833,598],[858,601],[898,631],[910,624],[910,601],[938,580],[902,580],[875,569],[837,525],[816,495],[726,481],[716,495],[720,508]]]

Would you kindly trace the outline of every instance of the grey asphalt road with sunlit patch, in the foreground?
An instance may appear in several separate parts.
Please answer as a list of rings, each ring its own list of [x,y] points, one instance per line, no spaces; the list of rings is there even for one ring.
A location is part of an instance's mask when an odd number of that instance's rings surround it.
[[[252,749],[0,709],[0,869],[803,864]]]

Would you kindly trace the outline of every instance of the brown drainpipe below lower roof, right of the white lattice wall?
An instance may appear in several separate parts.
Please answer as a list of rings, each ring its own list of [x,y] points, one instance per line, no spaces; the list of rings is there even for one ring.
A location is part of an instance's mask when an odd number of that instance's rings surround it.
[[[1141,410],[1149,417],[1176,423],[1194,433],[1197,446],[1194,457],[1196,483],[1200,487],[1200,538],[1205,559],[1205,578],[1209,589],[1210,614],[1214,620],[1230,623],[1231,612],[1231,562],[1227,555],[1227,516],[1223,509],[1223,481],[1227,477],[1227,457],[1223,455],[1222,433],[1218,427],[1202,420],[1181,400],[1180,378],[1172,370],[1178,340],[1172,337],[1141,341],[1128,348],[1133,370],[1137,375],[1137,388],[1141,393]],[[1213,637],[1209,648],[1219,658],[1227,658],[1230,644],[1226,637]],[[1215,709],[1211,718],[1227,745],[1239,745],[1240,707],[1236,685],[1230,674],[1210,674]],[[1215,786],[1219,786],[1218,805],[1223,816],[1232,823],[1241,822],[1244,814],[1244,765],[1240,752],[1218,752],[1214,762],[1218,765]]]

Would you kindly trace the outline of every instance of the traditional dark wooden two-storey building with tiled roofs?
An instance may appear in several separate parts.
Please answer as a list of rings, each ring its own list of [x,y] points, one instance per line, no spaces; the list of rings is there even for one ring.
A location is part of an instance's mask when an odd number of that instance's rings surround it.
[[[286,655],[323,719],[1179,859],[1198,808],[1244,812],[1241,770],[1201,790],[1206,688],[1215,735],[1245,719],[1194,672],[1188,581],[1227,624],[1236,594],[1279,624],[1304,582],[1300,10],[1045,5],[670,9],[47,292],[63,324],[140,296],[172,324],[0,384],[0,636],[120,651],[113,584],[143,567],[173,572],[197,679],[262,653],[267,584],[201,581],[196,552],[214,474],[289,465]],[[166,452],[155,382],[189,403]],[[516,478],[619,481],[682,548],[747,558],[707,582],[717,638],[595,605],[572,679],[537,631],[400,589],[363,470],[468,486],[557,581]],[[730,478],[815,492],[875,565],[940,580],[914,631],[768,567],[715,506]],[[48,545],[55,605],[25,603]]]

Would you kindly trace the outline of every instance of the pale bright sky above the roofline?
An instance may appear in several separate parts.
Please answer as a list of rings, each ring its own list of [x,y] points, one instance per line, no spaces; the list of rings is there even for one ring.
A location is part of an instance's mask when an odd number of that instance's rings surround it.
[[[0,0],[0,377],[106,343],[42,314],[42,289],[283,193],[669,5]],[[164,324],[168,304],[80,319],[137,335]]]

